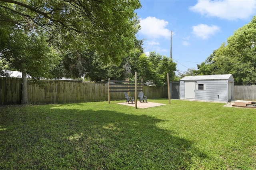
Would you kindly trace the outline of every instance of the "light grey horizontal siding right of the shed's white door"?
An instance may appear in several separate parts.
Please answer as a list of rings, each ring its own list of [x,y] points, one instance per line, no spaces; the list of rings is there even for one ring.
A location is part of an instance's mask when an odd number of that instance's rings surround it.
[[[196,100],[219,102],[228,101],[227,80],[197,81],[196,84],[206,84],[206,91],[196,90]]]

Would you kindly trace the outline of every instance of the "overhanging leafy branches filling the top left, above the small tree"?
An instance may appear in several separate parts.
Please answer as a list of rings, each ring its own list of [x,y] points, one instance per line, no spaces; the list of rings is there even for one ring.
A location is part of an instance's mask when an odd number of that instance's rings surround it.
[[[49,42],[86,48],[102,58],[121,62],[134,47],[139,0],[0,0],[2,21],[23,30],[48,32]],[[39,27],[31,27],[36,25]]]

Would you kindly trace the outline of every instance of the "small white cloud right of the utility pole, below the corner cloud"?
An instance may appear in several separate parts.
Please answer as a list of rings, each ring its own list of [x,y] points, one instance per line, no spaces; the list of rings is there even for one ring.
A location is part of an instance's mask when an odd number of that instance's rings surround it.
[[[197,26],[193,26],[193,34],[202,39],[209,38],[219,30],[220,28],[218,26],[208,26],[206,24],[199,24]]]

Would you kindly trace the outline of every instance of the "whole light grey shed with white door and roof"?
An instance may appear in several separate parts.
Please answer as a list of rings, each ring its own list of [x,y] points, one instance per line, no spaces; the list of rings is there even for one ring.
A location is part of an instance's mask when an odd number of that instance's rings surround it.
[[[196,75],[180,79],[180,99],[228,102],[233,99],[231,74]]]

